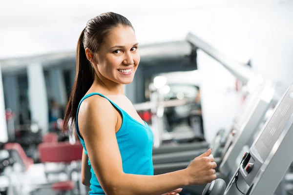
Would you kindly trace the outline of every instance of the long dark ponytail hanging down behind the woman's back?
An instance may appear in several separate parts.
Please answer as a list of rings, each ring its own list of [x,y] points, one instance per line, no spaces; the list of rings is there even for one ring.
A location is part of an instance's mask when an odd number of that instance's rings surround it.
[[[67,103],[67,107],[65,110],[64,120],[63,120],[63,128],[62,132],[66,132],[69,124],[70,134],[73,135],[72,132],[75,129],[76,124],[76,114],[78,105],[81,99],[84,97],[86,92],[89,90],[91,85],[94,82],[94,71],[93,68],[86,58],[85,48],[84,48],[84,30],[82,31],[80,38],[77,42],[76,48],[76,76],[74,80],[74,84],[71,90],[70,98]]]

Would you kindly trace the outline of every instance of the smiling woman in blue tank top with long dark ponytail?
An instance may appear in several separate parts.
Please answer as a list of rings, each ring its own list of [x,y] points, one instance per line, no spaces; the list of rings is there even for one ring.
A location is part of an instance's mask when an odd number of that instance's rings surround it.
[[[210,150],[184,170],[153,176],[152,132],[123,90],[140,61],[134,28],[125,17],[109,12],[89,20],[76,61],[63,129],[72,118],[84,146],[82,177],[89,194],[172,195],[216,178]]]

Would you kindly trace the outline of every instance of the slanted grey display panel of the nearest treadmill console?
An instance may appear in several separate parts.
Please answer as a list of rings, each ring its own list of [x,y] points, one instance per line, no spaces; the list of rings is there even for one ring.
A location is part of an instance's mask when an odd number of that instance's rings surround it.
[[[276,108],[268,125],[255,143],[255,149],[263,160],[270,154],[274,143],[284,130],[289,118],[293,113],[293,87],[287,91],[283,100]]]

